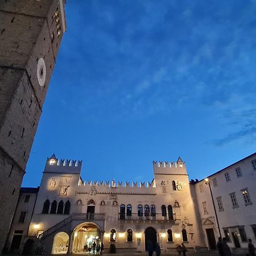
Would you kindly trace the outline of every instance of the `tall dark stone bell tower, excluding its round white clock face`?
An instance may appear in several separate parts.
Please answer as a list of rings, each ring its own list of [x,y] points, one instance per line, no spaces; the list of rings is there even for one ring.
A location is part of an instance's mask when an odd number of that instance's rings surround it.
[[[64,5],[0,1],[0,253],[66,30]]]

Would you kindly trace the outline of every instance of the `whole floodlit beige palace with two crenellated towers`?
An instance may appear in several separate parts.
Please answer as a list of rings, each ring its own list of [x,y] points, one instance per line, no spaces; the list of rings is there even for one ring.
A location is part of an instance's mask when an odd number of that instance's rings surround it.
[[[154,162],[151,183],[83,181],[81,162],[47,159],[28,236],[49,253],[81,252],[93,241],[105,250],[204,246],[185,163]],[[57,225],[56,225],[57,224]]]

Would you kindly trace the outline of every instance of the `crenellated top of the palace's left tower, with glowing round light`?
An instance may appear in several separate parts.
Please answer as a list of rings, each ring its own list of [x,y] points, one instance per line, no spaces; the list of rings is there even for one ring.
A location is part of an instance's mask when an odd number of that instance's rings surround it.
[[[44,172],[57,172],[60,174],[80,174],[82,168],[82,161],[58,159],[55,154],[46,160],[46,167]]]

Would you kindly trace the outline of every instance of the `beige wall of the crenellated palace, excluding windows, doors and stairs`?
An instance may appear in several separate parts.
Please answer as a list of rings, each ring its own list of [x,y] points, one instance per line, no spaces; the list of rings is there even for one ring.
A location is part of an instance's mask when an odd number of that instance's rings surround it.
[[[119,250],[133,249],[136,251],[137,237],[139,237],[141,238],[141,250],[144,251],[144,232],[148,227],[156,230],[158,242],[163,250],[175,249],[177,243],[182,242],[182,229],[187,231],[187,247],[204,246],[201,241],[199,221],[196,218],[196,201],[192,199],[187,170],[181,159],[175,163],[154,162],[155,179],[147,184],[115,183],[114,181],[83,183],[80,172],[81,162],[59,160],[55,155],[47,159],[29,236],[35,235],[38,231],[45,231],[68,217],[67,214],[42,214],[43,204],[47,199],[51,203],[54,200],[57,203],[63,200],[64,204],[69,200],[71,216],[76,213],[86,213],[89,201],[93,200],[95,213],[105,214],[105,222],[97,220],[94,222],[105,232],[103,242],[106,249],[110,246],[110,230],[115,229],[117,232],[115,245]],[[175,190],[172,185],[173,181],[176,184]],[[65,195],[62,194],[63,188],[67,188]],[[127,207],[128,204],[131,205],[132,216],[125,216],[125,220],[121,220],[120,206]],[[140,204],[143,207],[142,217],[138,217],[138,205]],[[145,205],[149,207],[155,205],[155,217],[144,216]],[[162,214],[162,205],[167,208],[166,216]],[[174,220],[168,217],[168,205],[172,206]],[[73,228],[81,222],[86,222],[86,220],[72,221],[69,236]],[[39,230],[35,230],[34,225],[40,225]],[[133,242],[127,242],[128,229],[133,230]],[[168,229],[172,230],[173,242],[168,242]]]

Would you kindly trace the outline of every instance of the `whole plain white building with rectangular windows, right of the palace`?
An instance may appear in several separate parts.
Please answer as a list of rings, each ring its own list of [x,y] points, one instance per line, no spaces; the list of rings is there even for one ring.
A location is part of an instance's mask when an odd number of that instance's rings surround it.
[[[255,181],[256,153],[195,183],[205,244],[209,248],[214,249],[220,236],[228,238],[228,245],[237,250],[247,247],[248,238],[255,244]]]

